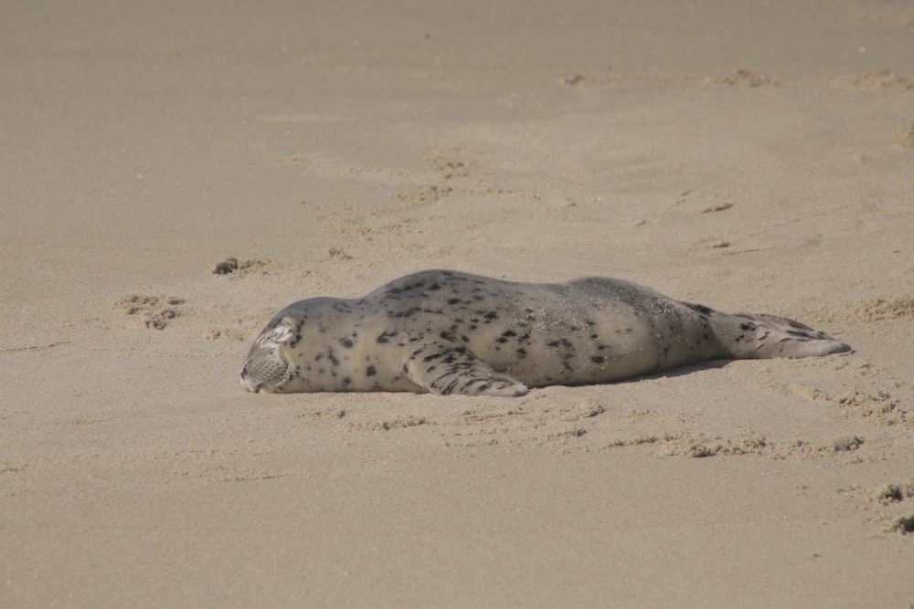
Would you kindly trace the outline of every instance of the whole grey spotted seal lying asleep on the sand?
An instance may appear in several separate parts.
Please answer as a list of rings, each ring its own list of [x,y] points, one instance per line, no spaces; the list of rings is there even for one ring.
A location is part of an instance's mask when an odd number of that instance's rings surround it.
[[[794,320],[730,315],[621,279],[516,283],[426,270],[360,299],[292,303],[254,341],[241,383],[254,393],[505,397],[707,360],[846,351]]]

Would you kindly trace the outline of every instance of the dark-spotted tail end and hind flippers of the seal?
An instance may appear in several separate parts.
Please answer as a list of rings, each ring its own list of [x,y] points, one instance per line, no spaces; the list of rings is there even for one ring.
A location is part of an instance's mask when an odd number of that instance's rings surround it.
[[[735,360],[813,357],[851,350],[850,345],[824,332],[777,315],[718,313],[710,321],[717,340]]]

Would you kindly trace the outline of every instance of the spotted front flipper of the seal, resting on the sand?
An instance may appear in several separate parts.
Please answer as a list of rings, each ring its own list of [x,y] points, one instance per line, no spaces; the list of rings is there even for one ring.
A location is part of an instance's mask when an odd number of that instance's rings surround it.
[[[526,394],[524,383],[496,373],[463,346],[434,342],[410,353],[404,365],[409,380],[431,394],[517,397]]]

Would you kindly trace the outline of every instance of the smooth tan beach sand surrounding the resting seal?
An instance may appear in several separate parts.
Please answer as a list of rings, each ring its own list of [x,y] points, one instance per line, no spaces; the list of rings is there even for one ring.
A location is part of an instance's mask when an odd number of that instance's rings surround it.
[[[8,2],[0,90],[0,605],[914,604],[907,0]],[[242,391],[421,268],[856,351]]]

